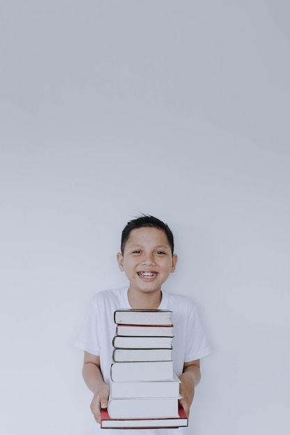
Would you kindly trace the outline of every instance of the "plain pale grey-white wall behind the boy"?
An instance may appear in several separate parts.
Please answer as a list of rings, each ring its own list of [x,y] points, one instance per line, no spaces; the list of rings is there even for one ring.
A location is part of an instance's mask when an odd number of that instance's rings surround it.
[[[289,434],[289,29],[287,0],[1,0],[1,434],[90,434],[74,340],[140,212],[213,350],[188,434]]]

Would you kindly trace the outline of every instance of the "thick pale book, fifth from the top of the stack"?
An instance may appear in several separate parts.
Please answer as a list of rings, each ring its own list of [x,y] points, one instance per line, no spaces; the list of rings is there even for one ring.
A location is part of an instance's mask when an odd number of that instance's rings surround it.
[[[173,377],[172,361],[112,363],[112,381],[170,381]]]

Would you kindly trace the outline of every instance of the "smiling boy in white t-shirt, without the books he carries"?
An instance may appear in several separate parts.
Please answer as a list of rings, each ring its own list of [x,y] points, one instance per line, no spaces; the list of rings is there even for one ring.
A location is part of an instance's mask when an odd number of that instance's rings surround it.
[[[161,290],[170,273],[175,272],[177,254],[168,225],[150,215],[142,215],[128,222],[122,231],[121,252],[117,254],[120,270],[129,286],[104,290],[92,298],[88,317],[76,345],[85,351],[83,379],[94,393],[90,409],[97,423],[101,409],[108,404],[112,339],[115,335],[113,313],[116,309],[168,309],[172,311],[174,338],[172,360],[181,380],[179,400],[189,415],[195,386],[200,381],[200,358],[210,353],[202,331],[198,313],[190,298]],[[130,435],[184,434],[179,429],[130,429]],[[94,434],[104,433],[95,425]],[[116,433],[106,429],[106,434]],[[118,429],[118,435],[128,430]]]

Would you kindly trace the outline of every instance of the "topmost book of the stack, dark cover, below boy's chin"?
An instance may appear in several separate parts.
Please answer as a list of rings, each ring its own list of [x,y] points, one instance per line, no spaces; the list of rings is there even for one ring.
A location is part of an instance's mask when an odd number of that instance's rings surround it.
[[[122,309],[114,312],[118,325],[172,325],[172,311]]]

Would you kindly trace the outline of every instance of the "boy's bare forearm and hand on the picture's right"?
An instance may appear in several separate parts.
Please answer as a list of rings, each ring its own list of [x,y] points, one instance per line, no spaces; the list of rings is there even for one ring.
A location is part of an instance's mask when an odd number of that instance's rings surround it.
[[[182,399],[179,399],[179,404],[184,409],[186,416],[189,416],[194,390],[200,381],[200,360],[196,359],[195,361],[184,363],[184,371],[179,376],[179,379],[182,381],[179,388]]]

